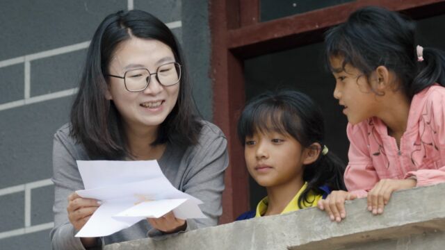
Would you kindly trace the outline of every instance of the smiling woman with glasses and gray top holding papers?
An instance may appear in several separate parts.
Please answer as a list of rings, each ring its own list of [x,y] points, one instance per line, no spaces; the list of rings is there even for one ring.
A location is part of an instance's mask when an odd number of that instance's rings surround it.
[[[75,238],[99,203],[83,189],[76,160],[158,160],[175,188],[201,199],[209,219],[147,219],[104,238]],[[109,15],[88,49],[71,122],[54,135],[54,249],[83,249],[213,226],[222,213],[227,141],[200,120],[184,58],[170,29],[147,12]]]

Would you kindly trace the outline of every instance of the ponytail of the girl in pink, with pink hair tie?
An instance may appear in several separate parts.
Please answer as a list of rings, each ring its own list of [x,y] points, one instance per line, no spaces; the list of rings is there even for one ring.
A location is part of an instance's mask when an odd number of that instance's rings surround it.
[[[421,92],[428,86],[439,83],[445,87],[445,52],[434,48],[424,48],[417,55],[418,73],[412,81],[410,95]]]

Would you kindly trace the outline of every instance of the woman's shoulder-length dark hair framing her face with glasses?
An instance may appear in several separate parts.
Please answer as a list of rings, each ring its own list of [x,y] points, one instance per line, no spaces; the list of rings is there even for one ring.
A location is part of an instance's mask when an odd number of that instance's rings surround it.
[[[119,44],[131,37],[154,39],[167,44],[183,70],[177,103],[159,126],[156,140],[148,143],[195,144],[202,128],[191,95],[184,56],[175,36],[163,22],[147,12],[119,11],[105,17],[92,37],[79,92],[71,110],[70,135],[83,144],[91,158],[131,156],[122,117],[113,101],[105,98],[108,64]]]

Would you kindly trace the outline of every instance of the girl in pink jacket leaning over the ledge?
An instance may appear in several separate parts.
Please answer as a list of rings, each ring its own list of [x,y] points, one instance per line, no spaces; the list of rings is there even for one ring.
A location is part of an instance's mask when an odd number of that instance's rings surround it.
[[[318,207],[332,221],[344,201],[367,197],[383,213],[392,192],[445,182],[445,53],[416,46],[414,22],[366,7],[325,36],[334,98],[348,117],[348,192]]]

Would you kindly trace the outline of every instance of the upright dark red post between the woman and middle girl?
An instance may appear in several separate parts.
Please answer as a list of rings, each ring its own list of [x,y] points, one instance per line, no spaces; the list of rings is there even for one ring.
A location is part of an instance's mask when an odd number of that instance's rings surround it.
[[[211,1],[210,27],[212,38],[211,78],[213,80],[213,122],[228,140],[229,168],[225,174],[223,216],[220,223],[233,222],[248,210],[248,172],[245,169],[243,147],[236,138],[238,113],[244,106],[243,61],[227,48],[228,26],[236,26],[238,1]],[[229,10],[228,7],[231,9]]]

